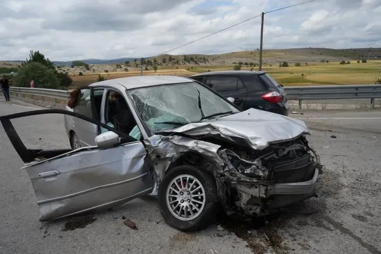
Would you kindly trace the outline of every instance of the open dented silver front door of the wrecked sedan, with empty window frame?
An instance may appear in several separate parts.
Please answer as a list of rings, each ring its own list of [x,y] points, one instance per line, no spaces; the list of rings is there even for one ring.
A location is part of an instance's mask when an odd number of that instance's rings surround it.
[[[109,130],[108,134],[117,139],[112,144],[98,142],[98,146],[79,149],[28,149],[27,146],[36,144],[24,144],[11,120],[44,114],[81,118]],[[0,121],[25,163],[23,169],[35,189],[41,221],[110,208],[143,196],[153,188],[151,164],[143,143],[105,124],[55,109],[1,116]]]

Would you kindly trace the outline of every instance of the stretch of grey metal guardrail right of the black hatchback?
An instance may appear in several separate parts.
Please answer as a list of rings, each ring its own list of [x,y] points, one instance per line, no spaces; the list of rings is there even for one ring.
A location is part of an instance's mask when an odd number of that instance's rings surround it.
[[[381,98],[381,85],[319,85],[285,86],[288,100],[298,100],[299,108],[303,100],[374,99]]]

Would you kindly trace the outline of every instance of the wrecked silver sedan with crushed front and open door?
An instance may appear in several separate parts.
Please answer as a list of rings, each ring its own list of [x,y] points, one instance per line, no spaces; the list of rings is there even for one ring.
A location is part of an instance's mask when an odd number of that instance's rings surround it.
[[[27,149],[11,120],[59,113],[72,149]],[[106,80],[72,92],[67,110],[0,117],[35,188],[40,220],[157,195],[170,226],[205,228],[219,208],[262,216],[315,196],[322,172],[304,122],[240,110],[187,78]]]

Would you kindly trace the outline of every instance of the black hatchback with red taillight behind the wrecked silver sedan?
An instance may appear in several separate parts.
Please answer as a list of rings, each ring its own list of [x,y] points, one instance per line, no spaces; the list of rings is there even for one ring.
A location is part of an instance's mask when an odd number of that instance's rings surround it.
[[[289,103],[282,85],[262,71],[219,71],[189,76],[225,98],[234,98],[234,104],[243,110],[261,109],[281,115],[289,114]]]

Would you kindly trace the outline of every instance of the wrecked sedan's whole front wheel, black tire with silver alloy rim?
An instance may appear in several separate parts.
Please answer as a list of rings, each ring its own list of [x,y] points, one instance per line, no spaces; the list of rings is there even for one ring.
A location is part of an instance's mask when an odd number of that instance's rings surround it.
[[[205,229],[219,208],[215,180],[195,167],[175,167],[158,187],[158,205],[169,226],[181,231]]]

